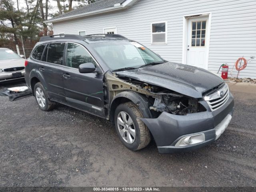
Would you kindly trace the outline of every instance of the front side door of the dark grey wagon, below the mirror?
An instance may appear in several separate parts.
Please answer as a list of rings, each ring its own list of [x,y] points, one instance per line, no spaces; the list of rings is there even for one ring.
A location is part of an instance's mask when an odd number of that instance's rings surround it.
[[[66,47],[66,69],[63,74],[66,102],[80,110],[104,117],[103,74],[80,73],[80,64],[92,62],[97,66],[88,50],[77,43]]]

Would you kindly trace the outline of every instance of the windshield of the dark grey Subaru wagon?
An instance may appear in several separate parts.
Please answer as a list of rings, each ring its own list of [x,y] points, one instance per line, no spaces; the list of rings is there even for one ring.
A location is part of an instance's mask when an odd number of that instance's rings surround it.
[[[111,70],[138,68],[165,62],[157,54],[137,42],[108,41],[91,45]]]

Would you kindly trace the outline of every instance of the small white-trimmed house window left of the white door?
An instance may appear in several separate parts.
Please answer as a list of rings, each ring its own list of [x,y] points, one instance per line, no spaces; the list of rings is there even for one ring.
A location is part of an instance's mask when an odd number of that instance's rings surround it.
[[[151,24],[151,42],[153,44],[167,43],[167,22]]]

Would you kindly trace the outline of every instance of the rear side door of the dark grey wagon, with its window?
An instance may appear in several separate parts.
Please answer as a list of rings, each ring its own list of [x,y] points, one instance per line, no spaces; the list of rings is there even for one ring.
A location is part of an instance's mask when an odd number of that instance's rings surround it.
[[[65,42],[50,43],[45,48],[42,56],[42,65],[39,66],[39,71],[43,74],[44,80],[48,84],[48,95],[51,100],[65,103],[64,92],[64,48]]]

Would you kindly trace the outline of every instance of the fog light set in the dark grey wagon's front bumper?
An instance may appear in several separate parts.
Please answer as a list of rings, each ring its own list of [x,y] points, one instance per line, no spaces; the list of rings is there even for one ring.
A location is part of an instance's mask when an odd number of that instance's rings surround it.
[[[194,145],[205,141],[204,133],[184,136],[175,144],[176,147]]]

